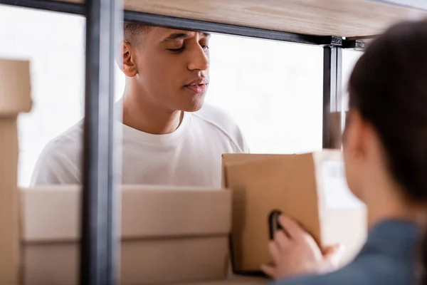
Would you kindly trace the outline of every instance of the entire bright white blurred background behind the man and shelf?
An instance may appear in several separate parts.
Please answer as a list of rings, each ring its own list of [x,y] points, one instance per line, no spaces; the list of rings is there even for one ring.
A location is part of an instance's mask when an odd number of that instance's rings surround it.
[[[33,110],[19,118],[19,186],[46,143],[83,118],[85,19],[0,5],[0,57],[31,61]],[[240,125],[251,152],[322,149],[323,49],[214,34],[207,103]],[[344,50],[342,88],[362,53]],[[119,99],[124,76],[116,68]]]

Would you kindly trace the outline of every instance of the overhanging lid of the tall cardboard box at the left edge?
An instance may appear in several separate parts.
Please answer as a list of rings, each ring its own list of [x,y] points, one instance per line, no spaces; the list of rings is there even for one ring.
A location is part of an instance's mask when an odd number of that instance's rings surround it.
[[[0,59],[0,116],[31,110],[30,64]]]

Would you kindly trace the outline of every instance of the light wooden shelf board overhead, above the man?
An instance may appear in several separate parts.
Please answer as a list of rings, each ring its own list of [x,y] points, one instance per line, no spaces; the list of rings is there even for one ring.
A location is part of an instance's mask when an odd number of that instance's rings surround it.
[[[83,0],[66,0],[81,3]],[[388,0],[389,1],[389,0]],[[396,0],[394,0],[396,1]],[[407,0],[409,4],[413,0]],[[385,0],[124,0],[131,11],[319,36],[374,36],[427,11]],[[392,2],[392,1],[390,1]]]

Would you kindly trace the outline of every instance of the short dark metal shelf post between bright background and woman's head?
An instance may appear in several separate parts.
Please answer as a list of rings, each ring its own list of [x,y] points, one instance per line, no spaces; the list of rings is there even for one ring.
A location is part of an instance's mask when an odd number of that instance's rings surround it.
[[[323,148],[341,146],[342,48],[325,46],[323,53]]]

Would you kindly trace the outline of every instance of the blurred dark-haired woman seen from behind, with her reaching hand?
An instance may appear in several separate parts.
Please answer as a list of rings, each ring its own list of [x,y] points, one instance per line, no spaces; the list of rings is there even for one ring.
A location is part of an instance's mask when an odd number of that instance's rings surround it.
[[[276,233],[270,243],[275,266],[263,271],[280,285],[427,284],[418,266],[427,259],[421,242],[427,217],[427,21],[392,26],[359,58],[349,80],[343,152],[349,188],[368,209],[362,250],[331,271],[331,254],[280,217],[290,237]]]

